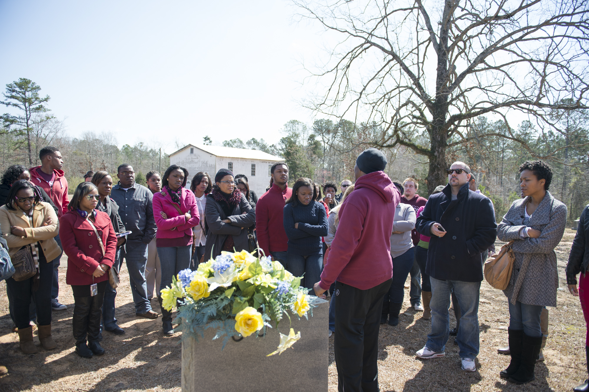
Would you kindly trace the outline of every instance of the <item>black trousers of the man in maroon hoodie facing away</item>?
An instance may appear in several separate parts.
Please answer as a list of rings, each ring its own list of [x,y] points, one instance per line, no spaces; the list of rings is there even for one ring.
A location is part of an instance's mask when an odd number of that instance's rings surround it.
[[[336,281],[335,363],[339,392],[378,392],[378,331],[382,298],[392,280],[368,290]]]

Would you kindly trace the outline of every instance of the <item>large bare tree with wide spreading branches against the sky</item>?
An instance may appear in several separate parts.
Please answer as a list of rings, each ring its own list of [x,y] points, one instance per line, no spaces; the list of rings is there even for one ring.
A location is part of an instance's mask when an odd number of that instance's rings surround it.
[[[478,116],[508,124],[508,112],[519,111],[558,130],[551,111],[587,108],[587,0],[294,3],[342,37],[330,61],[312,71],[327,84],[307,106],[382,124],[380,137],[366,144],[425,155],[430,192],[446,183],[446,150],[465,142],[501,137],[532,156],[554,156],[538,154],[509,125],[469,134]]]

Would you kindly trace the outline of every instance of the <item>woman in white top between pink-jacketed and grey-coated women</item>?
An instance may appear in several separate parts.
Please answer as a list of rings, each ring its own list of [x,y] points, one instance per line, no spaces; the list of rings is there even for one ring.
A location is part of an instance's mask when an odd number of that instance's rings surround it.
[[[198,224],[192,229],[194,243],[190,269],[193,271],[196,271],[198,268],[198,263],[200,263],[200,259],[204,255],[204,248],[207,245],[207,232],[204,230],[204,225],[206,224],[204,221],[204,212],[207,207],[207,195],[213,190],[213,184],[211,182],[209,173],[204,171],[199,171],[195,174],[192,182],[190,182],[190,190],[194,193],[194,197],[196,197],[198,216],[201,217]]]

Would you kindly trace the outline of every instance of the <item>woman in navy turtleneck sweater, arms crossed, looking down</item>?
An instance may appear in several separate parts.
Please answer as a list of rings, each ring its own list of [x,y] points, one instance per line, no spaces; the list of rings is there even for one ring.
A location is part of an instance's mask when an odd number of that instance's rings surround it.
[[[313,181],[299,178],[284,206],[284,231],[289,238],[286,269],[294,276],[303,276],[300,285],[313,293],[313,284],[321,277],[323,250],[321,237],[327,235],[327,213]],[[304,275],[303,275],[304,274]]]

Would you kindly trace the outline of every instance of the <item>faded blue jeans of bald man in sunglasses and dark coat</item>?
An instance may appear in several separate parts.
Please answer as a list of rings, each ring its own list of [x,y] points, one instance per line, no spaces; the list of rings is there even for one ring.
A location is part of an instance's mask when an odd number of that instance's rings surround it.
[[[459,280],[437,280],[429,277],[432,284],[432,331],[428,334],[426,346],[433,351],[444,351],[450,333],[450,290],[458,298],[462,317],[456,335],[456,343],[461,358],[474,360],[479,353],[478,304],[481,282],[463,282]]]

